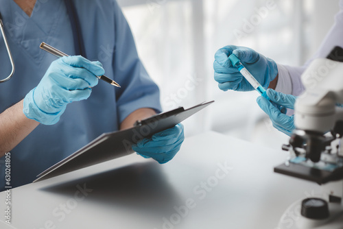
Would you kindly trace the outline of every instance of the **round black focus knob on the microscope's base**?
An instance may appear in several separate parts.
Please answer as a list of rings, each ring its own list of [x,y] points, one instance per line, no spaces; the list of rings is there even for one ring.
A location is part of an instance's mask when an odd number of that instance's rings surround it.
[[[329,217],[329,206],[325,200],[307,198],[301,202],[301,215],[308,219],[326,219]]]

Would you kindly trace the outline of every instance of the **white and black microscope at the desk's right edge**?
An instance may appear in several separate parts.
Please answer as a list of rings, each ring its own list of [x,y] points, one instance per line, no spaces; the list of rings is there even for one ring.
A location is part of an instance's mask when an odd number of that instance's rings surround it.
[[[296,130],[283,145],[289,158],[274,171],[316,182],[322,193],[289,206],[278,229],[343,228],[343,49],[311,62],[301,80],[305,92],[294,106]]]

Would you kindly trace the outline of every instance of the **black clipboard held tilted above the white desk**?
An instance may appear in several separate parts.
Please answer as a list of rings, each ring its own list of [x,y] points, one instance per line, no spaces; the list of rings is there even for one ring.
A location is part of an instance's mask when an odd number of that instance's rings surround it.
[[[137,121],[133,128],[102,134],[77,152],[38,174],[38,178],[34,182],[132,154],[132,144],[143,138],[150,138],[152,134],[174,127],[213,102],[204,102],[187,110],[182,107],[176,108],[154,115],[149,119]]]

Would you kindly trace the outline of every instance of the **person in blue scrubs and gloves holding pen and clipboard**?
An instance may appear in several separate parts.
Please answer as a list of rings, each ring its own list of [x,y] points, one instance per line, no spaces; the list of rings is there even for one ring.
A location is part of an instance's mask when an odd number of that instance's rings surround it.
[[[158,86],[137,55],[130,27],[115,0],[74,0],[86,58],[76,53],[71,15],[63,0],[0,0],[5,33],[16,63],[0,84],[0,156],[11,153],[12,187],[66,158],[104,132],[132,127],[161,112]],[[56,57],[41,42],[68,53]],[[0,78],[11,71],[0,38]],[[74,56],[73,56],[74,55]],[[97,79],[103,75],[121,88]],[[132,148],[165,163],[180,149],[182,125]],[[3,158],[0,180],[3,190]]]

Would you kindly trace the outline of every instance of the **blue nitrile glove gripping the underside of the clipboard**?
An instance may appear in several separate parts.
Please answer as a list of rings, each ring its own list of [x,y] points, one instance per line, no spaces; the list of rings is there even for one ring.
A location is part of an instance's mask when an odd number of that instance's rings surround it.
[[[179,123],[151,138],[144,138],[137,145],[132,145],[132,149],[144,158],[154,158],[158,163],[164,164],[174,158],[184,140],[183,125]]]

